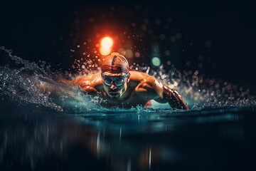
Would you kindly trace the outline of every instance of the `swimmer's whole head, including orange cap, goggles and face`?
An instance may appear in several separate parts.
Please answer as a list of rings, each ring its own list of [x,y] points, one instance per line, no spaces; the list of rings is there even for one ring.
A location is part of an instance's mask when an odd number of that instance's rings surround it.
[[[102,63],[102,83],[111,100],[119,100],[129,83],[129,63],[119,53],[113,52]]]

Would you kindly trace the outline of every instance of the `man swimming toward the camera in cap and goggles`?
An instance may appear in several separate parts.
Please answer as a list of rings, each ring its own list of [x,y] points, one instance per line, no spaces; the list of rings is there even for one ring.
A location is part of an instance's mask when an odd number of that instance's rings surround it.
[[[156,100],[169,103],[171,108],[188,110],[176,90],[147,73],[129,71],[127,59],[119,53],[111,53],[105,58],[101,73],[60,82],[78,85],[88,95],[99,95],[104,99],[101,105],[107,107],[132,108]]]

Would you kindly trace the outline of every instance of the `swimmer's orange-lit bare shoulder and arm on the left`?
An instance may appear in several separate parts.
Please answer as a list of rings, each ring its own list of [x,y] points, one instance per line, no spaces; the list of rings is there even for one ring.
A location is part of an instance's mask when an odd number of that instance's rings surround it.
[[[60,79],[60,83],[66,83],[68,85],[78,85],[85,90],[89,95],[97,95],[102,90],[102,79],[100,73],[94,73],[89,76],[80,76],[72,81]]]

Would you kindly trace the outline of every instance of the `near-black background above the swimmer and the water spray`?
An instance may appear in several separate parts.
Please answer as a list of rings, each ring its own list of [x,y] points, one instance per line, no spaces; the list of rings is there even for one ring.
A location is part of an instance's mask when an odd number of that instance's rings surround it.
[[[0,46],[21,58],[43,60],[65,71],[75,59],[93,54],[100,40],[96,33],[119,36],[116,48],[129,43],[127,48],[141,54],[129,62],[148,66],[152,45],[158,43],[167,71],[171,61],[180,71],[198,70],[256,94],[255,21],[252,4],[233,1],[1,1]],[[146,31],[142,29],[145,24]],[[165,38],[159,38],[161,34]],[[1,65],[9,62],[1,58]]]

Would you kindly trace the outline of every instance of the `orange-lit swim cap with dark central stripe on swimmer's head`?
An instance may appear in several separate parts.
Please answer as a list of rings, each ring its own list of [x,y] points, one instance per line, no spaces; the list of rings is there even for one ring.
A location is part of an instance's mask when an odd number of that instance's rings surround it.
[[[102,63],[102,73],[129,73],[127,58],[117,52],[113,52]]]

